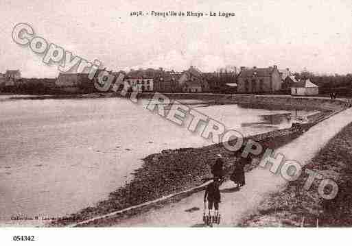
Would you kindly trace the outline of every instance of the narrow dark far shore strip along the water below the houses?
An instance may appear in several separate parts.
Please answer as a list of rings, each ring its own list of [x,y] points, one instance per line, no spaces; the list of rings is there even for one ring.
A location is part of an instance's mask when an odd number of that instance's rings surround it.
[[[240,95],[240,94],[212,94],[212,93],[161,93],[169,99],[195,99],[207,101],[209,105],[238,104],[248,108],[269,108],[272,110],[320,110],[331,111],[344,108],[344,99],[329,99],[327,97],[292,97],[290,95]],[[140,93],[138,99],[152,99],[154,93]],[[99,99],[125,98],[117,93],[89,93],[89,94],[58,94],[58,95],[16,95],[11,100],[44,100],[44,99]]]

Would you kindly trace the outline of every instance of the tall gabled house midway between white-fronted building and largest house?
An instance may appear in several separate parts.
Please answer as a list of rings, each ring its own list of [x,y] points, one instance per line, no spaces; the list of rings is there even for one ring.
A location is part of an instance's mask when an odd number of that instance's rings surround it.
[[[184,93],[206,93],[209,92],[209,82],[199,69],[191,66],[183,71],[178,79],[178,84]]]

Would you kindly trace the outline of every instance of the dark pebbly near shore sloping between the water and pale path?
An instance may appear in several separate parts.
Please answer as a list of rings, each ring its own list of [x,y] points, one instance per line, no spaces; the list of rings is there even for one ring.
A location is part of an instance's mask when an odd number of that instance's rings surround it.
[[[288,128],[257,134],[244,138],[244,143],[251,139],[261,143],[264,149],[276,149],[290,143],[291,140],[303,134],[311,125],[312,123],[307,123],[301,129]],[[215,161],[217,153],[222,153],[222,156],[224,156],[226,163],[224,165],[225,178],[228,179],[233,163],[237,160],[241,152],[228,151],[223,147],[222,143],[199,148],[163,150],[161,153],[154,153],[145,157],[142,167],[134,171],[132,181],[110,193],[108,199],[98,202],[94,207],[85,208],[73,213],[69,217],[52,221],[50,226],[67,226],[80,223],[93,217],[123,210],[130,206],[137,206],[147,201],[200,186],[211,177],[210,164]],[[260,158],[261,155],[257,157]],[[257,167],[257,163],[250,163],[245,167],[245,171],[248,172],[255,167]],[[119,221],[133,217],[135,214],[180,201],[180,199],[188,197],[202,189],[196,189],[190,193],[178,195],[166,201],[156,202],[155,204],[150,204],[150,206],[117,214],[111,218],[99,219],[83,226],[117,224]]]

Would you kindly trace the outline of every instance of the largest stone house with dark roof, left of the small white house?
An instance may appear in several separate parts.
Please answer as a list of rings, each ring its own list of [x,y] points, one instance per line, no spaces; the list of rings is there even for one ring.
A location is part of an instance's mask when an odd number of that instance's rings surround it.
[[[281,75],[277,66],[268,68],[244,66],[237,77],[237,92],[239,93],[272,93],[281,90]]]

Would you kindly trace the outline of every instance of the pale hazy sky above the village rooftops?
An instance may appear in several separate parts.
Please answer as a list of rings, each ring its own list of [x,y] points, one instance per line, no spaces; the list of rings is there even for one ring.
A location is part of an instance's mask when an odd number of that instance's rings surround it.
[[[130,16],[132,11],[235,12],[235,16]],[[56,77],[29,47],[12,40],[17,23],[110,70],[162,66],[182,71],[272,66],[352,73],[352,1],[1,0],[0,73]]]

